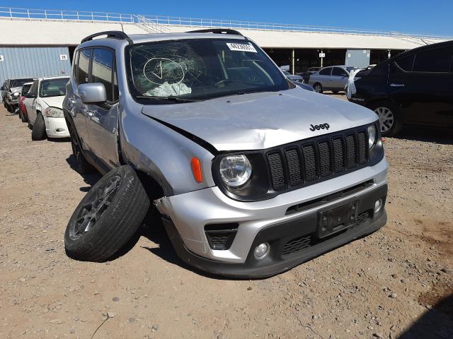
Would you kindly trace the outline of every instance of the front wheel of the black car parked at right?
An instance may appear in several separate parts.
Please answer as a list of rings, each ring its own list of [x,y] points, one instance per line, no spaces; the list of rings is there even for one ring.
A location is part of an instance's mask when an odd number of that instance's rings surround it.
[[[382,136],[396,136],[403,127],[401,112],[391,101],[377,102],[369,107],[379,117]]]

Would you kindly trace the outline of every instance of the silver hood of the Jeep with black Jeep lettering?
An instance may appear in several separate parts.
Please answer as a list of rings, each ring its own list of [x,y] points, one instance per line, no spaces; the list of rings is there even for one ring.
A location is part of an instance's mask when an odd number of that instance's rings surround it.
[[[202,102],[145,105],[142,113],[176,126],[217,150],[258,150],[372,123],[362,106],[301,88]],[[329,129],[311,131],[311,125]]]

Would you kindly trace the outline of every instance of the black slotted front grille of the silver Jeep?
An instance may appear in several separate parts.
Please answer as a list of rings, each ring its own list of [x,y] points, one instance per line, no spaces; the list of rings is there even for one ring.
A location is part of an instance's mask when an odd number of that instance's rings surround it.
[[[275,191],[314,184],[362,167],[369,160],[365,129],[282,145],[266,154]]]

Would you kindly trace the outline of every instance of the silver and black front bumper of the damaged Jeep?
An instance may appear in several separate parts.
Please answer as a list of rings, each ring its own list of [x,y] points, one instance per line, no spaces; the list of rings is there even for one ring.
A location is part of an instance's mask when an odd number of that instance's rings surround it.
[[[385,202],[386,173],[387,162],[384,158],[377,165],[358,169],[355,172],[303,189],[280,194],[266,201],[234,201],[225,196],[217,187],[211,187],[161,198],[155,203],[161,214],[164,215],[167,232],[179,256],[184,261],[202,270],[209,270],[217,274],[259,277],[272,275],[296,266],[307,258],[319,255],[382,227],[386,220],[384,207],[382,212],[376,215],[372,213],[372,210],[374,202],[379,198]],[[365,182],[367,182],[366,187],[338,196],[340,191],[347,191],[357,184]],[[313,201],[325,200],[326,197],[328,197],[327,201],[311,205]],[[371,210],[369,218],[360,227],[357,225],[332,239],[311,246],[312,249],[304,250],[303,255],[302,251],[298,251],[297,258],[287,256],[277,258],[277,249],[285,246],[283,243],[290,240],[289,238],[294,239],[315,232],[317,218],[321,211],[330,210],[352,201],[359,202],[359,213]],[[294,206],[301,205],[306,208],[292,210],[292,213],[288,213],[288,210]],[[205,234],[205,225],[231,222],[235,222],[239,226],[229,249],[212,249]],[[254,268],[254,264],[251,265],[251,260],[253,261],[251,251],[258,241],[263,241],[263,234],[270,232],[265,230],[274,230],[274,239],[271,240],[275,246],[271,244],[273,255],[269,256],[273,260],[272,262],[270,260],[260,261],[259,265],[257,264],[257,267],[260,268],[257,268],[258,270],[261,271],[263,266],[269,266],[269,268],[266,268],[264,273],[253,273],[256,268]],[[311,253],[311,251],[315,251],[315,253],[305,254],[306,252]],[[195,260],[195,258],[197,259]],[[211,265],[211,263],[215,263],[215,265]],[[273,267],[277,263],[281,264],[281,267],[274,269]],[[245,274],[245,271],[250,274]]]

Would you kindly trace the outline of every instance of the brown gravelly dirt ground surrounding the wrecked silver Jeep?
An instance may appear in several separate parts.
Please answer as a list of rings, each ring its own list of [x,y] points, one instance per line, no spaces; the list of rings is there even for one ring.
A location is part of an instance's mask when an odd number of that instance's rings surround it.
[[[452,133],[408,129],[385,148],[382,230],[229,280],[184,266],[161,227],[108,263],[69,259],[67,221],[99,177],[1,107],[0,338],[453,338]]]

